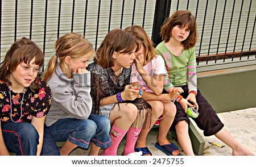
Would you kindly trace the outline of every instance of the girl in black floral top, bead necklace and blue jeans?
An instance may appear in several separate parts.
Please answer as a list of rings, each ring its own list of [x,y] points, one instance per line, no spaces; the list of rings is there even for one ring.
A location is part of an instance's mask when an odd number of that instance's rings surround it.
[[[0,155],[60,155],[44,120],[51,90],[38,70],[44,54],[30,39],[15,41],[0,66]]]

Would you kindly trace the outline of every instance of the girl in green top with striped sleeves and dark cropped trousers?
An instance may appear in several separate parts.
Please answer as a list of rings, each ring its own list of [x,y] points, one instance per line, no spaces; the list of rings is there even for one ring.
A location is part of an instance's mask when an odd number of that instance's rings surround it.
[[[200,113],[198,118],[192,119],[204,131],[205,136],[215,135],[233,149],[233,155],[253,155],[225,130],[216,112],[197,89],[194,48],[197,40],[196,27],[196,19],[190,11],[178,10],[161,27],[163,41],[156,47],[166,62],[168,77],[172,84],[182,86],[184,90],[182,96],[178,98],[179,102],[175,102],[177,112],[172,124],[179,144],[185,155],[194,155],[188,135],[187,117],[187,108],[192,106]],[[165,89],[168,90],[170,86],[172,85],[166,85]]]

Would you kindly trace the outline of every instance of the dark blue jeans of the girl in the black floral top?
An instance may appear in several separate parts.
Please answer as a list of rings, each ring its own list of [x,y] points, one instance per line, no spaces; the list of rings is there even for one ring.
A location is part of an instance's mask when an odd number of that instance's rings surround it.
[[[39,134],[30,123],[1,123],[3,140],[9,152],[17,156],[36,156],[39,144]],[[52,137],[51,131],[44,125],[42,156],[60,156],[59,148]]]

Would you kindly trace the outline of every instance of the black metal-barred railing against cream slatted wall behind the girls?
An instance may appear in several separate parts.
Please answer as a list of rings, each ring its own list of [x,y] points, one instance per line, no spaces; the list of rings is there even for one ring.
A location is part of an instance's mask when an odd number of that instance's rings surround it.
[[[2,0],[0,10],[1,61],[23,36],[43,49],[46,65],[56,39],[67,32],[85,35],[97,49],[110,30],[133,24],[142,26],[158,44],[160,26],[176,10],[190,10],[197,19],[197,56],[256,48],[254,0]],[[246,61],[253,64],[255,57]]]

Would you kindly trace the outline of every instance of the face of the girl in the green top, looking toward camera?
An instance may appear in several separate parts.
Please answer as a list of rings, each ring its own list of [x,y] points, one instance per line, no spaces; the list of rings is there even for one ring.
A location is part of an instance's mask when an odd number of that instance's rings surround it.
[[[172,36],[176,41],[184,41],[187,39],[189,35],[190,30],[188,29],[188,26],[175,26],[172,28]]]

